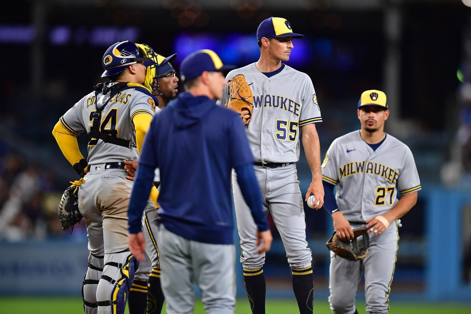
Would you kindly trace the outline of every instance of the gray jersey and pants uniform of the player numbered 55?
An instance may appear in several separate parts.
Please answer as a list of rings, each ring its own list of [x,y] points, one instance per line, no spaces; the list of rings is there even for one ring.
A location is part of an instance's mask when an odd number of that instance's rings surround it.
[[[255,63],[233,70],[227,80],[244,74],[253,94],[252,118],[246,129],[252,154],[258,162],[283,163],[265,168],[254,166],[263,205],[270,211],[286,250],[292,274],[311,274],[312,253],[306,241],[306,222],[295,164],[300,154],[300,128],[321,122],[312,81],[305,73],[284,64],[281,72],[267,77]],[[228,101],[227,87],[221,103]],[[232,177],[237,230],[241,239],[240,261],[244,276],[262,272],[265,254],[258,254],[256,225],[246,205],[236,174]]]

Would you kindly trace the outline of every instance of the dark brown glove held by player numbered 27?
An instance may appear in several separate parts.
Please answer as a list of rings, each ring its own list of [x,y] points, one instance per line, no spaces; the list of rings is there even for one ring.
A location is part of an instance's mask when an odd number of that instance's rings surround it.
[[[355,238],[350,241],[340,240],[334,232],[325,245],[335,253],[334,257],[338,255],[351,261],[362,260],[370,247],[370,237],[366,231],[366,228],[353,229]]]

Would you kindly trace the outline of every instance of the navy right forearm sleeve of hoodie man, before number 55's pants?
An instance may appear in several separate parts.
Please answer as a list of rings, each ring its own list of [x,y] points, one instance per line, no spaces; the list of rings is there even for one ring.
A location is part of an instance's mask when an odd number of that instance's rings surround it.
[[[252,217],[258,230],[260,232],[267,231],[267,218],[263,212],[260,188],[257,177],[255,177],[255,172],[253,171],[252,163],[246,163],[235,168],[235,173],[237,173],[237,183],[239,184],[245,202],[252,212]]]

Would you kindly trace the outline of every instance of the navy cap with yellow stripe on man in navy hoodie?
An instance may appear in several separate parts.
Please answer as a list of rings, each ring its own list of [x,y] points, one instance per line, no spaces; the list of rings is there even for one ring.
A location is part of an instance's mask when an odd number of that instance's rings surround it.
[[[188,81],[198,77],[204,71],[222,72],[235,69],[234,65],[222,64],[219,56],[210,49],[197,50],[183,59],[180,64],[180,79]]]

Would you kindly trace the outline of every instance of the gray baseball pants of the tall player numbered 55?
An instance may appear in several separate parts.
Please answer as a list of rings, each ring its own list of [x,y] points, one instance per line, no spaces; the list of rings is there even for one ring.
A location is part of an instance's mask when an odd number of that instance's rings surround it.
[[[264,210],[270,211],[273,217],[288,263],[295,269],[310,267],[312,252],[306,241],[306,220],[296,164],[274,169],[254,166],[253,169],[262,193]],[[265,264],[265,253],[257,253],[257,225],[237,184],[235,171],[232,171],[232,192],[242,248],[240,262],[247,269],[260,268]]]

